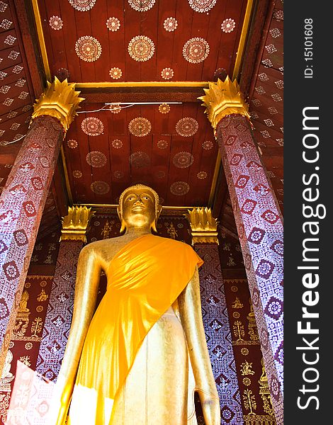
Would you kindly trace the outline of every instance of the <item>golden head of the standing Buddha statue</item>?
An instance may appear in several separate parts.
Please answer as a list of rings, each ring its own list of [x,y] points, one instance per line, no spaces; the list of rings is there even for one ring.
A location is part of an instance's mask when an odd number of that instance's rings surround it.
[[[120,233],[130,228],[157,232],[156,223],[161,210],[159,196],[152,188],[143,184],[130,186],[119,197]]]

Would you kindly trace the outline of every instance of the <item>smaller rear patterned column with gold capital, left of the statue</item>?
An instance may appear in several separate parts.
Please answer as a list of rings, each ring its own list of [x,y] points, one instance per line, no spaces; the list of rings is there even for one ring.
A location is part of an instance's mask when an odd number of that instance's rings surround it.
[[[57,266],[36,365],[38,373],[49,380],[56,380],[64,357],[72,323],[77,260],[92,216],[91,208],[71,207],[62,221]]]

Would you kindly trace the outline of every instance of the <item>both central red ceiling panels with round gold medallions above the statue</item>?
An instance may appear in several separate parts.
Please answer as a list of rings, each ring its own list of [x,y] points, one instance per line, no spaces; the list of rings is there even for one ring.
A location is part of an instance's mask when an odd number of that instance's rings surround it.
[[[51,76],[98,87],[108,81],[208,81],[216,69],[232,74],[247,1],[38,0],[38,6]],[[137,50],[133,39],[139,40]],[[163,69],[171,69],[169,75]],[[149,96],[156,100],[154,92],[146,93],[146,101]],[[103,103],[81,107],[96,111]],[[126,186],[144,182],[164,205],[207,205],[218,148],[203,111],[195,101],[171,104],[169,113],[157,105],[80,114],[64,144],[74,202],[116,203]],[[131,120],[140,118],[152,127],[143,137],[129,131]],[[103,134],[84,133],[85,119],[102,123]],[[181,119],[198,124],[193,136],[176,131]],[[89,154],[101,166],[91,164]]]

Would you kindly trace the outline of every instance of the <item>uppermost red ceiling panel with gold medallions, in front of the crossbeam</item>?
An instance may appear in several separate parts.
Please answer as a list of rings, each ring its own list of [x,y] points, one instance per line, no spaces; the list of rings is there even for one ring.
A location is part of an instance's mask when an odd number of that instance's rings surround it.
[[[245,0],[38,0],[50,72],[60,76],[68,72],[70,81],[76,82],[165,81],[161,75],[165,68],[174,72],[171,81],[212,80],[218,68],[232,74],[246,4]],[[130,42],[136,37],[144,40],[133,58]],[[196,38],[199,50],[189,42]],[[113,68],[121,70],[119,79],[110,76]]]

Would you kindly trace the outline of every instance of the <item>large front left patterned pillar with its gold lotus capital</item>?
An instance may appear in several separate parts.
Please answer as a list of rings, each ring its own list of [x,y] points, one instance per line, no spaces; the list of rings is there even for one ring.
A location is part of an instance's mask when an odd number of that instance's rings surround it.
[[[83,100],[78,95],[66,80],[47,83],[0,197],[0,370],[60,145]]]

